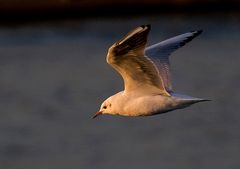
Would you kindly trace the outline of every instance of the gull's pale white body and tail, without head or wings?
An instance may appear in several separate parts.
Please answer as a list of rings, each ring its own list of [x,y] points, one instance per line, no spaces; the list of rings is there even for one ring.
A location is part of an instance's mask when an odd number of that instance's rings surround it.
[[[171,96],[142,95],[119,92],[114,97],[114,111],[123,116],[150,116],[184,108],[204,99],[194,98],[177,93]]]

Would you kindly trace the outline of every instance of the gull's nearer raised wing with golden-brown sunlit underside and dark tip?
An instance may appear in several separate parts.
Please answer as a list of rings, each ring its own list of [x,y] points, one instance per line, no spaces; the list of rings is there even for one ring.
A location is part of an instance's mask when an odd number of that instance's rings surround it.
[[[137,27],[113,44],[107,62],[124,80],[125,91],[138,90],[169,96],[153,62],[144,55],[150,25]]]

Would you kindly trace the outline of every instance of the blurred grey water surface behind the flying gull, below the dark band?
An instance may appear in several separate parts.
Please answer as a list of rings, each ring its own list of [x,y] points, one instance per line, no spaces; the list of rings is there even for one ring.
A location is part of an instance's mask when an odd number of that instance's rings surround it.
[[[0,27],[0,168],[240,167],[240,17],[163,15]],[[209,98],[154,117],[102,116],[122,90],[107,48],[152,24],[149,44],[203,29],[171,57],[175,89]]]

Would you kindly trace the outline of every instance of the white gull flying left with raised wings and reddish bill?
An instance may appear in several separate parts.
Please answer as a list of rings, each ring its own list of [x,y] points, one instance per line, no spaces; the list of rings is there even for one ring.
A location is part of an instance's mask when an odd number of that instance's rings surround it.
[[[146,47],[151,25],[141,25],[114,43],[106,57],[123,78],[124,90],[102,104],[99,115],[152,116],[210,101],[173,91],[169,56],[200,35],[190,31]]]

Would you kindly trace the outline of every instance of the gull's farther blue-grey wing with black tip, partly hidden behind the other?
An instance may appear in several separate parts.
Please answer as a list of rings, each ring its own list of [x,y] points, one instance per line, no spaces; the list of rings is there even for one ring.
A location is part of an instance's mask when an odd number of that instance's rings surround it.
[[[190,42],[193,38],[201,34],[202,31],[192,31],[182,35],[175,36],[145,49],[145,54],[154,62],[160,76],[162,77],[165,89],[168,92],[172,91],[170,70],[169,70],[169,55]]]

